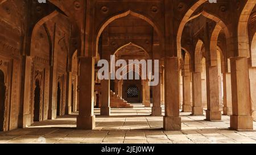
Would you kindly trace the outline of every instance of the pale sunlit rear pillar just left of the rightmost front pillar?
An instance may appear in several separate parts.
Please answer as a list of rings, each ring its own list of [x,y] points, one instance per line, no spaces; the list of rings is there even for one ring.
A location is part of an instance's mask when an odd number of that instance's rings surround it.
[[[231,74],[223,73],[224,107],[223,115],[232,115]]]

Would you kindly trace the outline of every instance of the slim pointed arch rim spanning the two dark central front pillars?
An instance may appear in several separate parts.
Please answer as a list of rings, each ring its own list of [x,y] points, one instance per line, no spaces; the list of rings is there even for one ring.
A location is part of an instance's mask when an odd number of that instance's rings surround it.
[[[101,24],[100,28],[98,28],[98,30],[97,30],[96,38],[94,39],[94,42],[93,42],[93,43],[96,43],[94,45],[95,48],[93,48],[93,49],[95,49],[95,51],[93,51],[93,56],[96,56],[96,53],[98,53],[98,41],[99,41],[101,33],[104,31],[104,29],[110,23],[112,23],[114,20],[119,19],[119,18],[123,18],[123,17],[125,17],[127,15],[135,16],[137,18],[140,18],[140,19],[146,21],[148,24],[150,24],[154,28],[154,30],[156,31],[156,33],[157,33],[157,35],[158,35],[158,37],[160,39],[160,45],[163,45],[163,34],[160,31],[160,28],[157,26],[157,24],[155,24],[153,22],[153,20],[151,20],[150,18],[148,18],[145,15],[139,14],[139,13],[131,11],[131,10],[128,10],[128,11],[125,11],[125,12],[123,12],[121,14],[119,13],[117,15],[111,16],[108,20],[106,20],[104,23]]]

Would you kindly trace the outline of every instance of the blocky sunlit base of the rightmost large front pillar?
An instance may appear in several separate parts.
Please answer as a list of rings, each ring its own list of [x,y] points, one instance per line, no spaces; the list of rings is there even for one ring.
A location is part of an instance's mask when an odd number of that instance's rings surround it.
[[[235,130],[252,130],[253,117],[251,116],[230,116],[230,128]]]

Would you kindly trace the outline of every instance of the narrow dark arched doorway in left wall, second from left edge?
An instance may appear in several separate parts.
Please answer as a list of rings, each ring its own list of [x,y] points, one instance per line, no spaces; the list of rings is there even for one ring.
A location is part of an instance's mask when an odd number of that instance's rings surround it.
[[[36,79],[35,81],[35,90],[34,90],[34,122],[40,121],[40,81],[39,79]]]

